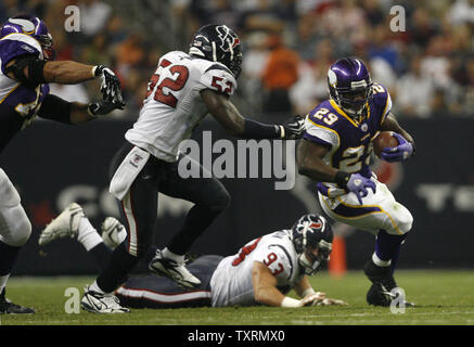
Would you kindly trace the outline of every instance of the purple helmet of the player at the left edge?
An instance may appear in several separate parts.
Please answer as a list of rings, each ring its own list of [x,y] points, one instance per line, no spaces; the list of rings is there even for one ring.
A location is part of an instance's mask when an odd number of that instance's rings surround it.
[[[18,14],[9,18],[0,28],[0,38],[10,34],[25,34],[35,38],[42,48],[44,60],[54,60],[53,38],[44,22],[29,14]]]

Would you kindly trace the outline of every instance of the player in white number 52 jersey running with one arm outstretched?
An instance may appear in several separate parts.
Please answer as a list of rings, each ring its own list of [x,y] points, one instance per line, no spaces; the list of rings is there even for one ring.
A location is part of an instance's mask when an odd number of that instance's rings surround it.
[[[156,252],[150,269],[183,286],[200,284],[185,268],[184,254],[229,205],[230,196],[209,172],[201,178],[181,178],[179,145],[208,113],[230,134],[242,138],[295,139],[303,133],[300,117],[284,125],[266,125],[239,113],[229,97],[235,91],[241,64],[240,40],[226,25],[202,27],[189,53],[171,51],[159,59],[140,116],[126,132],[126,141],[111,166],[110,191],[117,198],[128,236],[90,285],[85,301],[113,293],[146,255],[155,232],[158,193],[191,201],[194,206],[167,247]],[[205,170],[198,163],[195,165]],[[64,210],[66,215],[72,213]],[[50,224],[51,230],[56,228],[62,227]],[[104,311],[110,310],[104,307]]]

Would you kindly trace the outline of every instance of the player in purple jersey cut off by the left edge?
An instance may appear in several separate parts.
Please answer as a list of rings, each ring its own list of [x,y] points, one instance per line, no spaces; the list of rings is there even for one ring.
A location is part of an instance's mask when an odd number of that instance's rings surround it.
[[[38,17],[14,16],[0,30],[0,151],[36,116],[80,124],[124,106],[120,82],[111,69],[53,61],[51,35]],[[97,77],[103,79],[103,101],[87,105],[49,94],[49,82],[73,85]],[[5,298],[8,278],[30,233],[31,224],[20,195],[0,169],[0,314],[35,312]]]

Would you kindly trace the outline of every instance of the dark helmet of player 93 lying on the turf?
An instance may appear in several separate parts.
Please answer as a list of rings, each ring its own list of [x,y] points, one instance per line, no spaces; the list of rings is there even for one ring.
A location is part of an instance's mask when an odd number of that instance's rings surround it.
[[[292,228],[292,239],[306,274],[315,274],[322,262],[330,259],[334,233],[324,217],[300,217]]]

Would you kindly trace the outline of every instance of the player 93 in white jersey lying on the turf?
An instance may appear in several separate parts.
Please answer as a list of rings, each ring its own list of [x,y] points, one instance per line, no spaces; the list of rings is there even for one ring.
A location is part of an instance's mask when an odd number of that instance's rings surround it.
[[[80,206],[73,219],[75,224],[87,217]],[[60,218],[60,217],[57,217]],[[100,266],[111,256],[107,247],[117,247],[126,237],[124,226],[113,217],[102,224],[102,237],[93,231],[94,245],[72,229],[68,232],[44,233],[40,240],[73,236],[89,254],[94,255]],[[44,239],[46,237],[46,239]],[[153,274],[128,279],[115,291],[115,295],[86,296],[86,310],[126,312],[127,308],[178,308],[198,306],[252,306],[302,307],[310,305],[346,305],[343,300],[326,298],[315,292],[307,275],[316,274],[330,258],[333,232],[324,217],[305,215],[291,229],[276,231],[245,244],[235,255],[221,257],[206,255],[189,264],[201,281],[193,288],[184,288],[168,278]],[[44,244],[44,242],[42,242]],[[104,245],[106,243],[106,246]],[[151,249],[152,250],[152,249]],[[149,253],[152,258],[154,252]],[[295,290],[300,299],[286,294]]]

